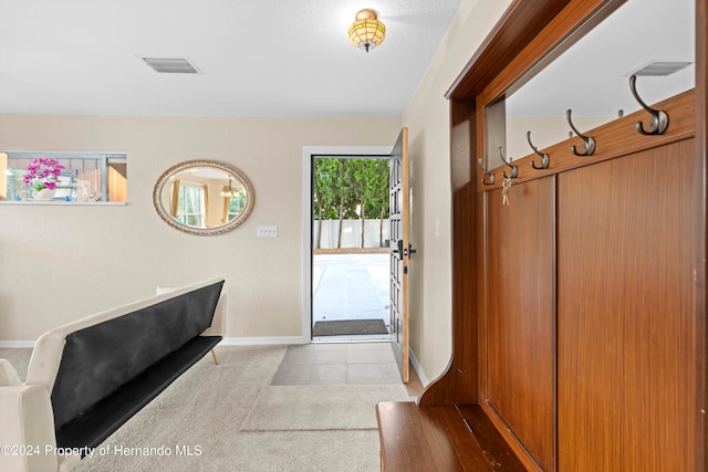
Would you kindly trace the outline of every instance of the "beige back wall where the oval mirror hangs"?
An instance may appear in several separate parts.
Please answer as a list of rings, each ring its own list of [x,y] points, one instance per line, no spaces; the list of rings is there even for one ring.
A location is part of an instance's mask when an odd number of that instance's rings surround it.
[[[128,204],[0,206],[0,340],[223,276],[229,337],[302,335],[302,147],[392,146],[400,118],[0,116],[0,149],[126,151]],[[189,159],[237,166],[256,207],[235,231],[196,237],[156,213],[153,186]],[[279,238],[257,238],[259,224]]]

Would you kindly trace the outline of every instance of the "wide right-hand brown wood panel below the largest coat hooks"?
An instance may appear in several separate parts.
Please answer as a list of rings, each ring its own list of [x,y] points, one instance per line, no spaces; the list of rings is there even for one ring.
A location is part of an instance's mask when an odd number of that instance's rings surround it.
[[[559,176],[560,470],[695,470],[694,151]]]

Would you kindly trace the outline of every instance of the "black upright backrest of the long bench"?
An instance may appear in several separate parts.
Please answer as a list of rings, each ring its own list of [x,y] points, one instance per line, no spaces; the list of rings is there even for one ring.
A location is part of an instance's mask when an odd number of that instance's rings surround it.
[[[206,331],[222,285],[219,281],[69,334],[52,389],[54,429]]]

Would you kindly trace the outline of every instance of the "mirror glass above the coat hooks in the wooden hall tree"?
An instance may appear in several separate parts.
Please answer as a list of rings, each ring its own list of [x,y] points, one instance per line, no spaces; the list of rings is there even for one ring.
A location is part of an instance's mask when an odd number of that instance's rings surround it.
[[[486,111],[487,167],[518,159],[641,108],[629,76],[649,106],[695,87],[695,1],[627,1],[513,93]],[[489,108],[501,109],[489,109]],[[500,118],[501,117],[501,118]],[[500,120],[501,119],[501,120]],[[647,119],[648,123],[648,119]],[[669,125],[670,126],[670,125]]]

